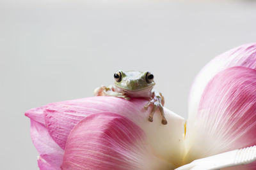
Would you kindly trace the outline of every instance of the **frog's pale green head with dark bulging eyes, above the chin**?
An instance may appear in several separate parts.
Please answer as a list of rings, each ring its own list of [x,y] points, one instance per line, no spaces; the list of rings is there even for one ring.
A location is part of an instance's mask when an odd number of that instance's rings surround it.
[[[154,75],[149,71],[116,71],[115,86],[129,91],[151,90],[155,85]]]

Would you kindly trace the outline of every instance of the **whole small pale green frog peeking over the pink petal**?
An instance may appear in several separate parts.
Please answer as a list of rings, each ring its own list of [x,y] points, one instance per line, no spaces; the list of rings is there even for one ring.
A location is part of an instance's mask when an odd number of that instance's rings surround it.
[[[161,92],[154,90],[154,74],[150,71],[116,71],[114,83],[108,87],[102,85],[94,90],[94,96],[114,96],[125,100],[132,97],[145,98],[148,100],[144,109],[152,108],[148,115],[148,121],[153,122],[154,113],[157,109],[161,114],[161,123],[167,124],[164,116],[164,97]]]

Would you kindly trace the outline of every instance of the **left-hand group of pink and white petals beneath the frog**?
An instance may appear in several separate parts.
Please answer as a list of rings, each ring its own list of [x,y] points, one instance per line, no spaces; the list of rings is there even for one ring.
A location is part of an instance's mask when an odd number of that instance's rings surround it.
[[[147,120],[145,99],[88,97],[26,112],[40,169],[170,169],[184,149],[184,118]]]

